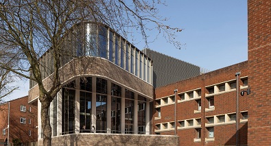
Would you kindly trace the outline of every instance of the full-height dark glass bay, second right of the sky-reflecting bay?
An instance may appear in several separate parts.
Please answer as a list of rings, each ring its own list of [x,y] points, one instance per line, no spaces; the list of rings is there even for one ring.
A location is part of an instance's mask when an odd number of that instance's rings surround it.
[[[134,93],[125,90],[125,133],[132,134],[134,128]]]

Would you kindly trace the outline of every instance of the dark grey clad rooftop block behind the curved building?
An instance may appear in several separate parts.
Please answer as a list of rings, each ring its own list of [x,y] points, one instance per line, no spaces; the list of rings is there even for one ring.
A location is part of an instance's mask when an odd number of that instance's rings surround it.
[[[166,56],[151,49],[144,49],[143,52],[153,60],[154,88],[200,75],[200,66]]]

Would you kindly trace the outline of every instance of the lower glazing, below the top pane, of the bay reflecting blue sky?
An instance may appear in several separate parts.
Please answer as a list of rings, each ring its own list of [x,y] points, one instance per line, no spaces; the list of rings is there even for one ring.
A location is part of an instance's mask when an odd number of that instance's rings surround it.
[[[98,95],[96,96],[96,132],[106,133],[106,107],[107,107],[107,96]]]

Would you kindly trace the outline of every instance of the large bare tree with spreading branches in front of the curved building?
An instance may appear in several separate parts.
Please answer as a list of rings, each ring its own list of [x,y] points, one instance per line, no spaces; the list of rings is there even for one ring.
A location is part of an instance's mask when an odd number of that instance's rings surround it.
[[[152,35],[162,34],[179,48],[180,43],[174,40],[174,36],[182,29],[164,24],[167,19],[158,16],[157,5],[160,4],[164,5],[160,0],[1,0],[0,49],[8,51],[5,60],[17,60],[17,65],[7,66],[0,62],[0,66],[38,84],[43,145],[51,145],[48,111],[51,101],[62,88],[59,76],[61,57],[75,57],[62,50],[67,32],[78,23],[92,21],[107,25],[126,38],[139,32],[147,47],[153,41],[148,40],[151,31]],[[156,34],[153,34],[154,30]],[[42,77],[43,71],[48,69],[40,60],[48,49],[54,60],[49,89],[45,88]]]

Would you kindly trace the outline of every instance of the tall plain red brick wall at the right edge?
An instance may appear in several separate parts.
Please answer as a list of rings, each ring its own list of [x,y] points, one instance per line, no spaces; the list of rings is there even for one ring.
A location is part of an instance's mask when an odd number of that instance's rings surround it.
[[[271,1],[248,0],[248,145],[271,143]]]

